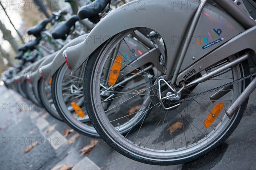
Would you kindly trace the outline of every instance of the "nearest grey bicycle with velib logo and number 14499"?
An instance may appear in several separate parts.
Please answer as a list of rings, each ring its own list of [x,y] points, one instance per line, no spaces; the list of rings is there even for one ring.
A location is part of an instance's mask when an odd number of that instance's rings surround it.
[[[241,0],[214,2],[219,8],[207,0],[193,1],[195,8],[133,1],[64,52],[72,72],[87,63],[87,114],[122,155],[147,164],[185,163],[209,153],[239,124],[256,88],[247,62],[255,58],[256,22]],[[104,38],[96,41],[98,35]]]

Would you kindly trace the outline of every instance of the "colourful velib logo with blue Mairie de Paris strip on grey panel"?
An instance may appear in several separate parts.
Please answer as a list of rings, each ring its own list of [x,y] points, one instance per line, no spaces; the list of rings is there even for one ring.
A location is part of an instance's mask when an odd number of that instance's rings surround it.
[[[219,23],[219,27],[221,27],[221,23]],[[219,29],[213,29],[211,32],[208,32],[208,36],[204,37],[200,41],[197,39],[196,42],[198,46],[201,46],[201,44],[205,44],[202,46],[202,49],[206,49],[209,46],[214,45],[215,43],[221,42],[224,40],[224,37],[220,37],[222,33],[222,30]]]

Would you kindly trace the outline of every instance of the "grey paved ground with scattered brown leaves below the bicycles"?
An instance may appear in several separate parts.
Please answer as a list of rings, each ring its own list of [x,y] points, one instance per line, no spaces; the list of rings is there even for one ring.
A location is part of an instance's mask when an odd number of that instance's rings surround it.
[[[174,166],[133,161],[102,139],[93,150],[80,156],[79,150],[92,138],[79,135],[74,143],[65,144],[77,133],[64,137],[64,130],[70,129],[66,124],[5,86],[0,86],[0,104],[0,170],[60,169],[64,164],[73,165],[73,170],[256,170],[256,90],[250,95],[241,123],[227,141],[203,158]],[[38,145],[24,154],[35,141]]]

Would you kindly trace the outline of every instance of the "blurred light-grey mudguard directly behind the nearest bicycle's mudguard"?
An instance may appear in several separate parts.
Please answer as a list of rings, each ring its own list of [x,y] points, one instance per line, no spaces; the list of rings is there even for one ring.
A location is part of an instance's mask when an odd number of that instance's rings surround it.
[[[77,37],[73,40],[71,40],[69,43],[67,43],[55,56],[55,58],[52,60],[51,63],[44,64],[43,66],[40,67],[40,72],[44,76],[45,80],[49,80],[52,75],[55,74],[55,72],[65,63],[65,59],[62,57],[62,53],[67,47],[74,46],[76,44],[81,43],[85,38],[87,37],[87,34],[81,35],[80,37]],[[41,74],[39,74],[41,78]],[[38,79],[39,80],[39,79]]]

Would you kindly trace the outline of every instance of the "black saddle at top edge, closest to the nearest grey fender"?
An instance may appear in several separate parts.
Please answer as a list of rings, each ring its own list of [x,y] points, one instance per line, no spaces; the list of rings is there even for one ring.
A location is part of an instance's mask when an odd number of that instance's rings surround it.
[[[99,22],[99,13],[110,3],[111,0],[95,0],[86,6],[83,6],[78,11],[80,20],[88,18],[91,22]]]

